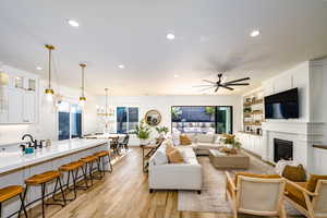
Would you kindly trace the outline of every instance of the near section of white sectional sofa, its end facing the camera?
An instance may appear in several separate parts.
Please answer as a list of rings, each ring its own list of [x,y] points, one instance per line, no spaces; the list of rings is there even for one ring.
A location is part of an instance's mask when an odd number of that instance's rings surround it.
[[[195,190],[201,193],[203,170],[192,147],[178,146],[184,164],[169,164],[166,156],[167,141],[149,159],[148,185],[153,190]]]

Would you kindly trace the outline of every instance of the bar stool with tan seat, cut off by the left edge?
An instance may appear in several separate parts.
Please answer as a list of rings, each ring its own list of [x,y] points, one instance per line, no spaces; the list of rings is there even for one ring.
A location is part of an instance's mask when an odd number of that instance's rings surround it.
[[[23,209],[24,215],[27,218],[27,213],[24,205],[24,198],[22,196],[22,193],[23,193],[23,187],[21,185],[11,185],[11,186],[0,189],[0,217],[2,217],[2,203],[7,199],[11,199],[20,195],[22,205],[21,205],[19,217],[21,216],[21,210]]]

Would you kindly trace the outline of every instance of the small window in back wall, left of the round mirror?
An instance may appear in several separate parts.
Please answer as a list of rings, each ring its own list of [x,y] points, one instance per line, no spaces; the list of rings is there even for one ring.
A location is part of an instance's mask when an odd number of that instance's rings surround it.
[[[117,108],[117,133],[130,133],[135,130],[138,123],[138,108],[118,107]]]

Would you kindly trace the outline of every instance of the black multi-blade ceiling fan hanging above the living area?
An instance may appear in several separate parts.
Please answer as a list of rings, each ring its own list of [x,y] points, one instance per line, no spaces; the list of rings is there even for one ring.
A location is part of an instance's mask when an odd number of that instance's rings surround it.
[[[210,88],[215,88],[215,93],[217,93],[220,87],[229,89],[229,90],[233,90],[234,88],[232,88],[230,86],[246,86],[246,85],[250,85],[250,83],[241,83],[243,81],[249,81],[250,77],[239,78],[239,80],[229,81],[229,82],[225,82],[225,83],[221,83],[222,82],[221,77],[222,77],[222,73],[219,73],[217,82],[203,80],[203,82],[209,83],[209,85],[198,85],[198,86],[194,86],[194,87],[205,87],[201,90],[207,90],[207,89],[210,89]]]

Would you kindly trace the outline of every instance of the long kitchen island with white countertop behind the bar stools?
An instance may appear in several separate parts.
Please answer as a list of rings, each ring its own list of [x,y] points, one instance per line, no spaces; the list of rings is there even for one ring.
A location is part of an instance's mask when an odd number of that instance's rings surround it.
[[[78,160],[96,152],[108,150],[105,140],[69,140],[52,142],[49,147],[38,148],[34,154],[25,155],[19,148],[0,153],[0,187],[23,185],[24,180],[48,170],[57,170],[60,166]],[[108,167],[108,166],[106,166]],[[63,177],[65,181],[65,175]],[[55,184],[49,184],[47,192],[53,191]],[[26,203],[39,197],[40,187],[33,187],[26,195]],[[8,201],[2,205],[2,217],[7,217],[20,208],[19,198]]]

